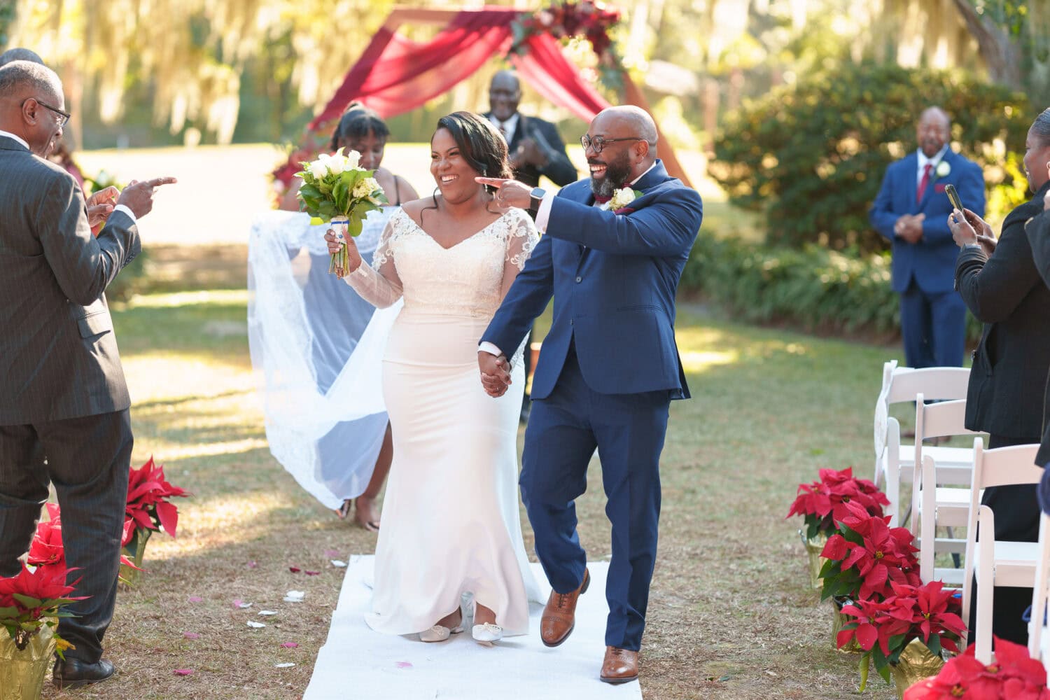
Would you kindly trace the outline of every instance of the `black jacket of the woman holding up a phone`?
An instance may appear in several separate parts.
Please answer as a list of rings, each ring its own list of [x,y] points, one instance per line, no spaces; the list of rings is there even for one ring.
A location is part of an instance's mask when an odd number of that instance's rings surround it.
[[[967,307],[984,322],[966,395],[966,427],[1001,438],[1038,442],[1044,431],[1050,370],[1050,288],[1035,268],[1025,222],[1043,211],[1044,185],[1003,221],[995,252],[964,248],[956,282]]]

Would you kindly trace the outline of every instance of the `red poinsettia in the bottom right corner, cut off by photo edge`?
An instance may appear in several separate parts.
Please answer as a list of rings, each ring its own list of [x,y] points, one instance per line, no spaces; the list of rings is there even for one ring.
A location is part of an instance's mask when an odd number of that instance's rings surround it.
[[[970,644],[937,676],[904,691],[904,700],[1050,700],[1046,669],[1027,646],[995,637],[995,661],[988,665],[973,657],[973,650]]]

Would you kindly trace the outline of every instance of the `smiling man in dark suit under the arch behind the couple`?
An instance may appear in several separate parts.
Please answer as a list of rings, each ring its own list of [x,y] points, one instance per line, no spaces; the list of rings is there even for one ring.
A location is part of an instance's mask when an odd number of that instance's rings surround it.
[[[576,182],[576,169],[565,152],[565,142],[550,122],[525,116],[518,111],[522,99],[521,81],[513,70],[501,70],[488,84],[488,111],[485,118],[507,142],[510,169],[514,179],[529,187],[540,185],[540,175],[560,187]],[[532,333],[525,341],[525,377],[532,370]],[[530,399],[526,387],[522,402],[522,423],[528,420]]]

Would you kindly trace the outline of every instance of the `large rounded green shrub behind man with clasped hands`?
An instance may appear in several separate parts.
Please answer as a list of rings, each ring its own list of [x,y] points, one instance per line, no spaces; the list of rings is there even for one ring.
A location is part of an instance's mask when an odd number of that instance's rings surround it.
[[[733,204],[765,213],[771,242],[885,250],[867,212],[930,105],[951,114],[952,141],[984,168],[987,216],[1001,220],[1027,197],[1007,149],[1024,150],[1034,115],[1024,94],[957,73],[874,63],[815,73],[731,115],[709,171]]]

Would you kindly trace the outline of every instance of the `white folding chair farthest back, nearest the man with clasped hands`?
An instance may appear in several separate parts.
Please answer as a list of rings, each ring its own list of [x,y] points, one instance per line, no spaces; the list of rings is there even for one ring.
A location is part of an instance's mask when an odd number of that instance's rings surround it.
[[[886,514],[890,526],[900,525],[901,482],[910,482],[915,465],[915,446],[901,443],[900,422],[889,415],[895,403],[915,401],[921,393],[926,400],[944,401],[965,399],[970,370],[966,367],[898,367],[890,360],[882,367],[882,390],[875,405],[875,484],[881,487],[889,501]],[[971,463],[969,448],[927,447],[941,467]]]

